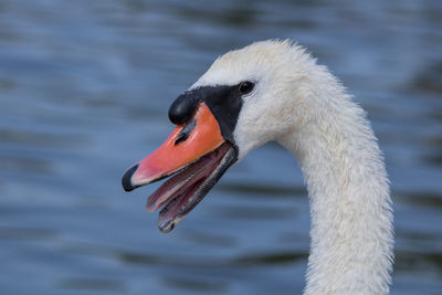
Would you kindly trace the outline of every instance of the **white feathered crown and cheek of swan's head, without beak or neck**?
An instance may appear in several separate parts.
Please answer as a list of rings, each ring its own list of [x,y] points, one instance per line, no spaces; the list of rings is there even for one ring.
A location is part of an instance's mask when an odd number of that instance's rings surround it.
[[[261,41],[225,53],[191,86],[236,85],[253,88],[241,96],[233,139],[238,158],[293,133],[308,119],[309,70],[317,66],[306,51],[291,41]],[[313,102],[309,99],[309,103]]]

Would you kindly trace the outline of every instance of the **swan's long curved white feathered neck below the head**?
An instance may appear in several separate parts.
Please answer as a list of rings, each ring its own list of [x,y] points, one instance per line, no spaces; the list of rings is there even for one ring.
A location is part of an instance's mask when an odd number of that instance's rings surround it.
[[[305,294],[388,294],[392,213],[386,168],[364,110],[343,102],[278,140],[296,156],[308,190]]]

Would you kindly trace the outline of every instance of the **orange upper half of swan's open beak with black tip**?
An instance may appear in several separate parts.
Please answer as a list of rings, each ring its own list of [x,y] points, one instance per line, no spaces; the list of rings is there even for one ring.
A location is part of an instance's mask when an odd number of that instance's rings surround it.
[[[215,117],[206,103],[200,103],[190,123],[175,128],[157,150],[125,171],[123,188],[130,191],[168,177],[223,143]]]

